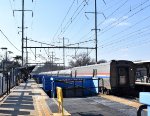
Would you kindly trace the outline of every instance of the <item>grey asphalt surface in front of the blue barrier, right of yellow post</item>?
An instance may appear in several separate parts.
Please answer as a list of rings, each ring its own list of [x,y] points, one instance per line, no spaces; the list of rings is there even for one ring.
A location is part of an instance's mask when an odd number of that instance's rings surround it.
[[[72,116],[137,116],[137,109],[102,97],[66,98],[65,109]],[[147,116],[142,112],[142,116]]]

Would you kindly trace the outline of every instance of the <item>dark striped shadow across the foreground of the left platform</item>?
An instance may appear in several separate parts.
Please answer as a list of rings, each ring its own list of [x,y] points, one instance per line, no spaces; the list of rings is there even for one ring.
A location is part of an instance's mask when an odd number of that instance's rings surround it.
[[[27,87],[27,83],[24,88]],[[0,105],[0,114],[4,115],[30,115],[34,110],[31,91],[13,91]]]

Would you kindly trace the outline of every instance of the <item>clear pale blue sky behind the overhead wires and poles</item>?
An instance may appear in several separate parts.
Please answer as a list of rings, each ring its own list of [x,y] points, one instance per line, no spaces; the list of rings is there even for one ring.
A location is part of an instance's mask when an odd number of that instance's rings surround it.
[[[0,1],[0,30],[5,35],[0,32],[0,48],[12,51],[10,58],[21,55],[21,12],[13,13],[22,8],[21,2]],[[29,47],[63,46],[63,37],[65,46],[95,47],[94,0],[25,0],[25,9],[33,11],[33,17],[25,12],[25,38],[37,41],[28,41]],[[97,0],[98,60],[150,60],[149,11],[150,0]],[[0,50],[1,59],[4,52]],[[95,50],[65,49],[65,65],[82,52],[95,59]],[[36,49],[36,57],[35,49],[28,49],[30,63],[50,61],[52,54],[56,63],[63,62],[62,49]]]

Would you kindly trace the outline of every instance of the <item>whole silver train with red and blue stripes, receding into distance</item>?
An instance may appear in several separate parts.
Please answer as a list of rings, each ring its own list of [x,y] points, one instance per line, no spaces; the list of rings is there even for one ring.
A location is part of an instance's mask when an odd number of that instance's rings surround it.
[[[66,70],[41,72],[39,75],[99,78],[102,91],[107,93],[128,92],[135,86],[135,65],[132,61],[112,60],[108,63],[74,67]],[[32,74],[34,75],[34,74]]]

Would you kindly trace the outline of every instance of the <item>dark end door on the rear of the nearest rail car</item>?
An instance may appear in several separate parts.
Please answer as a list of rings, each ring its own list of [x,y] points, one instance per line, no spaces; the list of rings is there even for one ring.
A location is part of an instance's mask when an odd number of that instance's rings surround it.
[[[129,68],[118,67],[118,84],[119,86],[129,85]]]

